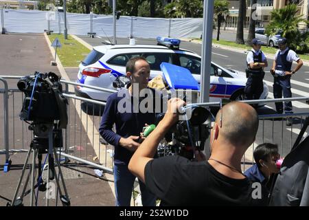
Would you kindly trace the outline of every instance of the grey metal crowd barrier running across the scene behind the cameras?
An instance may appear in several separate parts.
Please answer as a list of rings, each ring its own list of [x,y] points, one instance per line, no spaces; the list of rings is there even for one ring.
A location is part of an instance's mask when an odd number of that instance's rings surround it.
[[[22,76],[0,76],[0,81],[4,85],[3,89],[0,89],[0,93],[3,94],[3,96],[0,97],[0,102],[3,102],[3,117],[1,117],[1,119],[3,118],[3,136],[1,135],[0,139],[3,138],[4,144],[3,149],[0,147],[0,154],[5,154],[5,164],[8,163],[10,154],[27,152],[30,141],[32,140],[32,132],[27,130],[27,124],[25,124],[25,122],[19,120],[18,115],[20,109],[16,109],[15,107],[16,103],[22,105],[23,93],[21,93],[19,89],[10,89],[8,87],[8,80],[16,80],[21,77]],[[58,153],[62,155],[66,162],[70,159],[99,168],[106,173],[113,173],[113,146],[102,142],[102,138],[100,138],[100,134],[98,133],[102,109],[99,108],[98,116],[95,115],[95,107],[104,106],[106,103],[75,96],[70,86],[89,87],[91,89],[98,89],[111,93],[115,92],[115,90],[82,85],[66,80],[60,80],[60,82],[64,85],[63,95],[69,100],[69,106],[67,108],[69,122],[64,132],[64,151],[58,151]],[[16,86],[16,82],[14,82],[14,85]],[[308,101],[309,97],[246,100],[241,102],[254,104],[260,102],[268,103],[296,100]],[[214,107],[219,106],[220,102],[194,103],[194,105]],[[296,140],[297,133],[299,133],[301,129],[304,118],[308,116],[308,111],[293,114],[259,115],[260,126],[256,142],[253,143],[244,155],[242,161],[243,170],[253,163],[253,151],[258,144],[264,142],[276,143],[279,146],[281,155],[286,155],[293,146],[293,140]],[[293,124],[287,129],[284,126],[284,120],[277,120],[277,118],[282,119],[287,117],[297,118],[297,124]],[[290,138],[288,139],[289,142],[284,141],[286,137]]]

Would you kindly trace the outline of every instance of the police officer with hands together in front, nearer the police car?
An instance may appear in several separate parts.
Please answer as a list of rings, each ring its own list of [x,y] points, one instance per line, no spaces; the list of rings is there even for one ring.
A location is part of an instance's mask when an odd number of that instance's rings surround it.
[[[267,67],[267,59],[261,50],[262,41],[253,39],[252,50],[247,54],[247,83],[244,94],[247,100],[257,100],[263,92],[264,67]]]

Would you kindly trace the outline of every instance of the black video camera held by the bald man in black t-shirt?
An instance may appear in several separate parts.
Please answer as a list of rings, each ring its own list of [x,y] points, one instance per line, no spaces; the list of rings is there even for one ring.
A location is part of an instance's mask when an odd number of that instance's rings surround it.
[[[157,155],[181,155],[187,159],[194,159],[194,151],[203,151],[210,134],[209,123],[214,118],[211,112],[204,107],[192,106],[189,120],[179,120],[172,129],[165,134],[165,144],[159,144]],[[164,113],[157,115],[158,124]]]

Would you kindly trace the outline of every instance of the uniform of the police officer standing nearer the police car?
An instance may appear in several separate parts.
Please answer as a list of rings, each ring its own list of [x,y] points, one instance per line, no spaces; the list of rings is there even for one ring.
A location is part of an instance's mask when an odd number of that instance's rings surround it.
[[[264,71],[263,67],[259,69],[251,69],[249,63],[265,63],[266,56],[261,50],[255,51],[251,50],[247,54],[247,67],[246,70],[247,74],[247,83],[244,87],[244,94],[247,100],[257,100],[260,98],[264,87],[263,87],[263,78],[264,78]]]

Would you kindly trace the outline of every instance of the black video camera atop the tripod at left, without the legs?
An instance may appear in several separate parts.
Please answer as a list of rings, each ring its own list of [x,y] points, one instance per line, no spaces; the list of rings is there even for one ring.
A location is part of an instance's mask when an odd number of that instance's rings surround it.
[[[61,147],[62,129],[67,128],[67,99],[62,95],[60,77],[53,72],[22,77],[17,87],[25,98],[19,117],[32,121],[29,129],[34,132],[32,146],[48,148],[49,131],[53,131],[55,147]],[[55,122],[57,120],[58,122]]]

